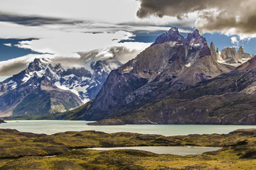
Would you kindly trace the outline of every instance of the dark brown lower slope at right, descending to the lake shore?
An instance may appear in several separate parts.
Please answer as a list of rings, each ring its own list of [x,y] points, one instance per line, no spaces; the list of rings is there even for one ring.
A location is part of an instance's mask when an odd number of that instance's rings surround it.
[[[139,105],[127,103],[112,109],[116,115],[107,118],[127,124],[255,125],[255,60],[164,98],[157,96]]]

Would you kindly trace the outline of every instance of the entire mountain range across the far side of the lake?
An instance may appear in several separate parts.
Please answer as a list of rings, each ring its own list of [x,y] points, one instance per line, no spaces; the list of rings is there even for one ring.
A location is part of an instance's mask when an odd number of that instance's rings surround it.
[[[41,118],[97,120],[92,125],[256,122],[256,57],[242,47],[220,52],[198,30],[183,38],[171,28],[133,60],[115,63],[117,69],[106,69],[112,64],[105,61],[92,63],[93,72],[49,63],[35,60],[1,83],[0,103],[7,108],[1,108],[2,115],[12,111]],[[15,101],[11,95],[21,99]],[[10,107],[6,96],[16,104]],[[44,100],[40,106],[28,106]],[[82,101],[88,102],[82,105]]]

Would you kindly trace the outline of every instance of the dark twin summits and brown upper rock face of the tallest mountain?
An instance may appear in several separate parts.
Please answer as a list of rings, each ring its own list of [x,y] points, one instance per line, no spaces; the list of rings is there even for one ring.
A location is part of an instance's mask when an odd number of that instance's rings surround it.
[[[178,74],[184,67],[191,67],[196,60],[206,56],[210,56],[210,48],[198,30],[194,30],[185,39],[177,28],[171,28],[168,33],[159,35],[156,42],[136,59],[120,67],[119,72],[130,72],[151,81],[164,70],[167,74]]]

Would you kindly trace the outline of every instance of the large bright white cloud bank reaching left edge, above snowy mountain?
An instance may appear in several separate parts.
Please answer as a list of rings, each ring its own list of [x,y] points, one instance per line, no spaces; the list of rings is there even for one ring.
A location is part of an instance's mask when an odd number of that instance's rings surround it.
[[[77,52],[118,46],[120,40],[128,40],[133,36],[132,33],[122,30],[103,33],[83,33],[82,28],[67,31],[60,28],[21,26],[4,22],[0,22],[0,27],[2,28],[0,32],[1,38],[35,38],[31,41],[21,41],[16,45],[17,47],[58,56],[73,56],[77,55]]]

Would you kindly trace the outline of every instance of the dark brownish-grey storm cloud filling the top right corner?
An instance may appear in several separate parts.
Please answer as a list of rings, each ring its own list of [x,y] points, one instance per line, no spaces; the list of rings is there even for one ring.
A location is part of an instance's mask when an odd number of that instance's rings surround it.
[[[188,13],[197,12],[196,26],[203,32],[225,31],[256,33],[255,0],[139,0],[139,18],[175,16],[182,20]]]

